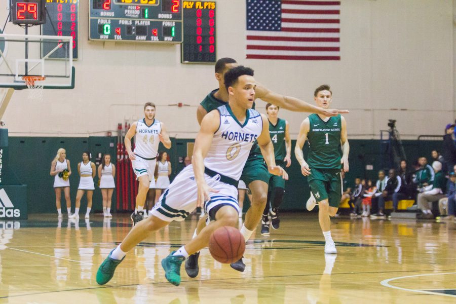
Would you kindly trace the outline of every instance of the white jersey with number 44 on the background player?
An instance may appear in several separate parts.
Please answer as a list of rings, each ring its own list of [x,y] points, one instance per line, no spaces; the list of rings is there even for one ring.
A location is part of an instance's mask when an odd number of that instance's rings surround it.
[[[139,120],[136,125],[135,150],[133,153],[144,159],[157,157],[161,131],[162,127],[159,120],[154,119],[150,126],[146,125],[145,119]]]

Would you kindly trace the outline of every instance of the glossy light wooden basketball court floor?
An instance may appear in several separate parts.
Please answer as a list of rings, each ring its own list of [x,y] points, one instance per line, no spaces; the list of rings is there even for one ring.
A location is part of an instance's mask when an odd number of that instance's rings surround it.
[[[316,214],[282,215],[281,229],[246,247],[239,273],[200,257],[200,274],[164,278],[160,261],[193,235],[196,216],[150,235],[105,286],[99,264],[129,232],[127,215],[88,223],[54,215],[0,221],[0,302],[5,303],[454,303],[456,224],[336,218],[337,255],[323,253]]]

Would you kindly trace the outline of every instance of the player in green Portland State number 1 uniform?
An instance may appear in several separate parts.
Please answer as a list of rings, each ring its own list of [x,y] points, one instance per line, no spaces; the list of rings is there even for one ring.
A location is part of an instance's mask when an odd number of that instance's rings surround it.
[[[314,92],[317,106],[329,108],[332,92],[328,85],[318,87]],[[309,156],[304,160],[302,146],[309,141]],[[331,220],[339,207],[342,196],[340,169],[349,170],[350,145],[347,139],[347,123],[343,116],[328,117],[312,114],[299,129],[294,153],[301,166],[301,173],[308,176],[311,198],[307,209],[319,205],[318,219],[325,237],[325,253],[337,253],[331,237]],[[315,198],[315,199],[314,199]]]

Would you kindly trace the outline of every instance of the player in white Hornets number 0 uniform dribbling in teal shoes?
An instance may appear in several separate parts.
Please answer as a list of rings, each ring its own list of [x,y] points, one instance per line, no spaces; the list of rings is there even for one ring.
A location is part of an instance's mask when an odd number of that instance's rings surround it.
[[[97,283],[106,284],[126,253],[145,239],[150,232],[182,221],[197,204],[204,205],[212,221],[196,238],[162,260],[166,279],[180,284],[180,265],[209,243],[209,237],[221,226],[238,223],[237,185],[253,142],[257,140],[271,174],[288,178],[275,165],[274,148],[269,136],[268,120],[251,109],[255,98],[253,70],[243,66],[225,74],[229,104],[209,112],[201,123],[195,140],[192,165],[185,167],[161,196],[153,213],[137,224],[112,250],[97,272]]]

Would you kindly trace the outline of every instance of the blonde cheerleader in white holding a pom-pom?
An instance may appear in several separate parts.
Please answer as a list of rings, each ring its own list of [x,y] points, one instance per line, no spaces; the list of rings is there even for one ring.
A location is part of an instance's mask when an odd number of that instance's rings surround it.
[[[67,170],[68,178],[63,179],[63,173]],[[59,176],[60,174],[60,176]],[[71,200],[69,196],[69,176],[71,175],[70,162],[66,159],[66,150],[60,148],[57,151],[57,155],[51,163],[51,176],[54,177],[54,191],[55,191],[55,205],[57,207],[58,218],[62,218],[62,209],[60,206],[60,198],[62,196],[62,189],[65,195],[66,209],[68,216],[71,216]]]

